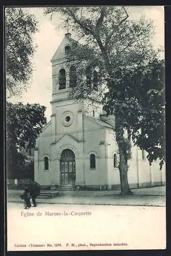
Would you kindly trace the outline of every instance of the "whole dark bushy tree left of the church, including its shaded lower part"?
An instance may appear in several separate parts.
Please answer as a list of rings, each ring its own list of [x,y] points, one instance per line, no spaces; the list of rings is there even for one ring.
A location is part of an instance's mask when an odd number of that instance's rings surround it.
[[[35,147],[37,135],[47,121],[46,107],[22,102],[7,102],[6,107],[7,175],[8,178],[18,178],[19,170],[25,164],[25,156],[19,151]]]

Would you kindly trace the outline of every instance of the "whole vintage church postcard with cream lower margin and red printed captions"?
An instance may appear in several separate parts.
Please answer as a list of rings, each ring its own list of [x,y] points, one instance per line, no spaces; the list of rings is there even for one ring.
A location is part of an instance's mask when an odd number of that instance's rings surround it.
[[[4,15],[7,250],[165,249],[164,7]]]

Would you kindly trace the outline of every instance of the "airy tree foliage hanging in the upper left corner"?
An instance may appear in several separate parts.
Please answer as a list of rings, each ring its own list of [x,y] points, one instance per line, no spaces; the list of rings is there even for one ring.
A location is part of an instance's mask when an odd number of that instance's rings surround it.
[[[20,95],[31,78],[35,52],[35,16],[22,8],[5,9],[5,53],[7,96]]]

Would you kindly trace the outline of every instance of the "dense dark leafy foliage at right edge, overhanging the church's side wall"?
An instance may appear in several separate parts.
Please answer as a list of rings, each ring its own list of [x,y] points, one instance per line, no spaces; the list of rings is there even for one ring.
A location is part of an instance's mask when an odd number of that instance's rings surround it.
[[[148,152],[150,164],[159,158],[162,168],[165,161],[164,60],[154,59],[148,65],[139,62],[134,69],[120,70],[119,77],[121,73],[119,89],[105,94],[103,108],[110,113],[118,107],[117,113],[122,116],[135,145]],[[124,88],[122,94],[120,88]]]

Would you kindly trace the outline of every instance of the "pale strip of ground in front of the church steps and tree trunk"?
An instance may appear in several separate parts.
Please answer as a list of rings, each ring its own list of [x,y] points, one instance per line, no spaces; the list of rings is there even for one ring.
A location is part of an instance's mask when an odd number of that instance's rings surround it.
[[[165,186],[132,189],[134,195],[121,196],[114,191],[65,191],[55,198],[37,198],[37,204],[80,204],[80,205],[127,205],[127,206],[165,206]],[[24,203],[20,199],[23,190],[8,189],[7,202]]]

